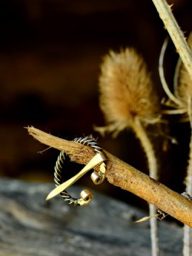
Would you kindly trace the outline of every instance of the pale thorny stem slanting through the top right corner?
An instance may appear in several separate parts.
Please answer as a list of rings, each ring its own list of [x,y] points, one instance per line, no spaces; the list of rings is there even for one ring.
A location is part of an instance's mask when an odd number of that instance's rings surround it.
[[[164,27],[170,35],[170,38],[174,42],[178,54],[185,68],[187,69],[190,78],[192,79],[192,53],[189,46],[184,38],[183,32],[181,32],[174,15],[171,12],[171,6],[167,5],[165,0],[152,0],[157,12],[159,13],[162,21],[164,22]]]

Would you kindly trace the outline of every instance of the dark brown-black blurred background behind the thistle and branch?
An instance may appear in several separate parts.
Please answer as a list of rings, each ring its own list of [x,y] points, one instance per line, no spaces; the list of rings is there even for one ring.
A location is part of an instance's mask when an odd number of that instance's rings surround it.
[[[174,15],[187,34],[191,0],[173,0]],[[24,128],[33,125],[61,138],[94,135],[111,154],[147,173],[142,148],[131,131],[101,138],[93,126],[104,125],[98,105],[98,76],[109,49],[131,46],[145,58],[160,98],[157,71],[167,32],[151,0],[2,0],[0,2],[0,175],[53,182],[58,151],[41,145]],[[172,85],[177,54],[169,44],[165,75]],[[184,191],[190,129],[177,118],[151,130],[160,181]],[[157,130],[161,130],[161,135]],[[164,133],[164,135],[162,135]],[[167,135],[177,138],[171,144]],[[82,179],[80,184],[91,185]],[[94,189],[134,204],[139,198],[108,185]]]

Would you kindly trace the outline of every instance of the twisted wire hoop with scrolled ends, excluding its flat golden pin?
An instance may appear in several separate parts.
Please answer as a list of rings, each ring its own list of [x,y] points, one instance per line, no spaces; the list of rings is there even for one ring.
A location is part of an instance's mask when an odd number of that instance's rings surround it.
[[[98,143],[94,140],[94,138],[85,137],[85,138],[74,138],[74,142],[80,143],[82,145],[87,145],[88,147],[91,147],[95,153],[101,153],[103,149],[98,145]],[[56,187],[58,185],[61,185],[62,181],[62,171],[63,171],[63,165],[65,161],[65,152],[61,151],[58,155],[58,159],[55,163],[55,172],[54,172],[54,181]],[[106,165],[104,162],[100,165],[100,171],[94,171],[91,174],[91,179],[94,182],[94,184],[98,185],[101,184],[102,181],[104,181],[105,178],[105,171],[106,171]],[[64,199],[64,201],[68,202],[68,204],[73,204],[74,206],[78,205],[85,205],[88,204],[92,199],[92,193],[91,191],[88,191],[87,189],[84,189],[81,191],[81,198],[73,198],[66,190],[62,191],[61,197]]]

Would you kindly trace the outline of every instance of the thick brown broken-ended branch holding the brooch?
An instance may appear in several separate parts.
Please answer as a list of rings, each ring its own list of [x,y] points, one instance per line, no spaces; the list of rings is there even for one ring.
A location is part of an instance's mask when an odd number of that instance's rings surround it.
[[[29,127],[28,133],[51,148],[65,151],[71,161],[82,165],[87,165],[88,161],[94,156],[94,152],[87,146],[49,135],[37,128]],[[104,151],[104,154],[108,159],[106,177],[112,185],[136,194],[192,228],[191,201],[141,171],[137,171],[137,169],[127,165],[124,161],[115,158],[107,151]]]

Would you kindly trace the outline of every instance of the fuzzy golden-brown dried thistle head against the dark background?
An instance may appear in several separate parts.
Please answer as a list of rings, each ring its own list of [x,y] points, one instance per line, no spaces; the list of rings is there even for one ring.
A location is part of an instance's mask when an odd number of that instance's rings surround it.
[[[133,48],[110,52],[104,57],[99,78],[100,107],[108,126],[100,132],[116,135],[137,119],[157,121],[159,103],[147,66]]]

